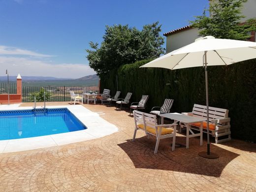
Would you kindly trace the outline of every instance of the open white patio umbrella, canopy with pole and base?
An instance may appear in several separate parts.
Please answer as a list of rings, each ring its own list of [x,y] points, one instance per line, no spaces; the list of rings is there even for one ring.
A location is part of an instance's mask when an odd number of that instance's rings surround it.
[[[216,154],[210,153],[207,66],[234,64],[254,58],[256,58],[256,42],[206,36],[197,38],[193,43],[140,67],[161,67],[174,70],[204,65],[207,106],[207,154],[199,155],[213,158]],[[218,158],[217,155],[216,158]]]

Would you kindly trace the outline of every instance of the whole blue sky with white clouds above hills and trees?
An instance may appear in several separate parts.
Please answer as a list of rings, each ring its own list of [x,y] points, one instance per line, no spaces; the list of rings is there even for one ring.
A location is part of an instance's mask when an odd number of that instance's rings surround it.
[[[188,25],[206,6],[208,0],[0,0],[0,76],[6,67],[10,75],[94,74],[85,49],[102,41],[106,25],[141,30],[159,21],[162,35]]]

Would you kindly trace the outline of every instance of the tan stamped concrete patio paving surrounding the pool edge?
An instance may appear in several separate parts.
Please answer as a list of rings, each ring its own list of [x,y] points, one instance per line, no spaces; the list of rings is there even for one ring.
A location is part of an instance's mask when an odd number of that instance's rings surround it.
[[[235,139],[213,144],[211,150],[220,158],[208,160],[197,155],[205,151],[205,139],[199,146],[199,139],[191,138],[189,149],[172,152],[169,138],[160,141],[154,155],[156,138],[148,139],[138,131],[136,141],[131,141],[134,121],[128,112],[105,105],[84,106],[119,131],[89,141],[0,154],[1,192],[256,191],[256,144]],[[185,145],[184,135],[177,134],[176,143]]]

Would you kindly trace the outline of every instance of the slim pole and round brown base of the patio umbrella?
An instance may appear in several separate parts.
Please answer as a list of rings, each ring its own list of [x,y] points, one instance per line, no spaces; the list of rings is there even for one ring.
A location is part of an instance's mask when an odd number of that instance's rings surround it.
[[[206,110],[207,110],[207,152],[200,152],[198,155],[207,159],[217,159],[219,158],[217,154],[210,153],[207,51],[204,52],[204,69],[205,69],[205,92],[206,92]]]

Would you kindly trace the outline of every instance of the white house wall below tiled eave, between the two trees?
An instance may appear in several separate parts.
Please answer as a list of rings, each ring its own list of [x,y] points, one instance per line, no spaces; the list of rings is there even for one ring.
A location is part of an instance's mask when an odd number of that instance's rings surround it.
[[[200,36],[198,35],[197,28],[171,34],[166,37],[166,53],[172,52],[185,45],[188,45],[194,42],[194,40],[198,37]]]

